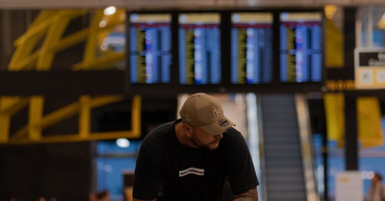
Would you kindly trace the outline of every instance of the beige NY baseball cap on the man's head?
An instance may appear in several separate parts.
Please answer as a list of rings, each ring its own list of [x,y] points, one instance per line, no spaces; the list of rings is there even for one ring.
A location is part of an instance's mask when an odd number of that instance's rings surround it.
[[[183,122],[198,126],[211,135],[222,134],[231,126],[235,126],[235,123],[223,114],[218,99],[205,93],[189,96],[179,114]]]

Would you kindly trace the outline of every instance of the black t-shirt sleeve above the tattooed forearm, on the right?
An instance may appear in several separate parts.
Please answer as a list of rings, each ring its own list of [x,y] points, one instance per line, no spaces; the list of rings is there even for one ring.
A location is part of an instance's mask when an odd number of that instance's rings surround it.
[[[249,148],[241,133],[237,132],[228,151],[228,181],[233,193],[242,194],[259,185]]]

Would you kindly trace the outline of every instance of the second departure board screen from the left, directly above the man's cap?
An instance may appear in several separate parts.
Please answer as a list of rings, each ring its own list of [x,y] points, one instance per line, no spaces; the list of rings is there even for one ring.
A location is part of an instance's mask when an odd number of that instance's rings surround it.
[[[178,23],[179,83],[220,84],[220,14],[180,14]]]

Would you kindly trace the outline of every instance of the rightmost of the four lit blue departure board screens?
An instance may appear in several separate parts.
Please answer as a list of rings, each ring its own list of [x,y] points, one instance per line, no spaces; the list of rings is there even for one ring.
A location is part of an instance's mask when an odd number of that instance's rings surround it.
[[[281,82],[322,81],[321,13],[280,14]]]

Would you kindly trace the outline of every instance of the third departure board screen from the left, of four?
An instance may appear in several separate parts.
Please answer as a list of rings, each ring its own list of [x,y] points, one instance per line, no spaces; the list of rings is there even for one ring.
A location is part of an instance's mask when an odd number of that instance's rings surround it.
[[[271,83],[273,14],[233,13],[231,22],[231,82]]]

